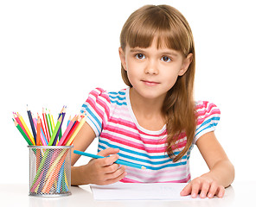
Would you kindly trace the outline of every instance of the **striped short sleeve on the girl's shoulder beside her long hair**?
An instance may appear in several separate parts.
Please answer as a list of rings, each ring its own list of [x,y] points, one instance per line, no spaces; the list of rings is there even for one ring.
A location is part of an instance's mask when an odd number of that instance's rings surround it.
[[[197,124],[193,143],[204,134],[214,131],[221,118],[221,110],[214,104],[206,101],[196,103]]]

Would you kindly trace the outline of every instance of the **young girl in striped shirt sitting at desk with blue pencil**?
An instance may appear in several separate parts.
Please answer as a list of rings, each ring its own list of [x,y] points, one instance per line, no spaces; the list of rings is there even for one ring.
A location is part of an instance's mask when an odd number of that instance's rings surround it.
[[[214,135],[220,110],[195,102],[195,47],[189,23],[167,5],[136,10],[122,29],[122,78],[129,87],[90,92],[81,112],[87,121],[74,140],[85,151],[99,137],[99,155],[84,166],[72,154],[72,185],[121,182],[189,182],[189,157],[196,145],[209,172],[181,191],[195,198],[223,197],[234,180],[234,166]],[[111,156],[108,156],[111,155]],[[119,166],[116,160],[145,166]]]

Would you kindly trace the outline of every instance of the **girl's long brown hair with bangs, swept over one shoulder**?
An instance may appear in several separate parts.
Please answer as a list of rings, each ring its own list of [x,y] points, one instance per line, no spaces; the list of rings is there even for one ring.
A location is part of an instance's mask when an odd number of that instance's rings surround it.
[[[189,150],[195,136],[196,116],[193,97],[195,78],[195,46],[189,23],[175,8],[168,5],[146,5],[131,14],[125,22],[120,35],[123,51],[128,44],[134,47],[150,47],[157,38],[157,47],[169,47],[180,51],[184,57],[189,53],[193,59],[187,72],[179,76],[176,84],[167,92],[162,112],[166,116],[167,154],[177,161]],[[126,85],[131,86],[124,67],[121,68],[122,78]],[[187,142],[182,152],[174,155],[179,148],[180,135],[186,133]]]

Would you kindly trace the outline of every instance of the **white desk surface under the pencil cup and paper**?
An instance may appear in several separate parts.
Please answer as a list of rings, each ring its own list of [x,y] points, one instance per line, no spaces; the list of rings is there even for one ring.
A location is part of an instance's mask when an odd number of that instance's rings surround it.
[[[71,196],[61,198],[38,198],[29,196],[28,185],[0,185],[0,203],[1,206],[26,206],[26,207],[201,207],[201,206],[255,206],[254,185],[256,182],[236,183],[226,189],[224,198],[202,199],[195,201],[166,201],[166,200],[146,200],[146,201],[96,201],[93,199],[92,191],[89,185],[80,187],[71,187]]]

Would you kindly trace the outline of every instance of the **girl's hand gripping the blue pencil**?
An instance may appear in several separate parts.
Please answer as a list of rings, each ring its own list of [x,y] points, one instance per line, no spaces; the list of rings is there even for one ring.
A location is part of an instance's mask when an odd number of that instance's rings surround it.
[[[106,158],[90,160],[86,166],[83,166],[83,176],[85,176],[86,183],[109,185],[124,179],[127,174],[125,172],[126,166],[114,163],[119,158],[118,152],[119,149],[117,148],[106,148],[98,154]]]

